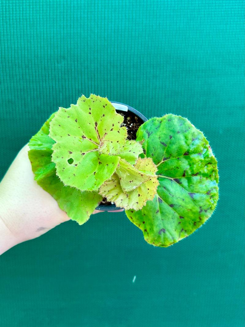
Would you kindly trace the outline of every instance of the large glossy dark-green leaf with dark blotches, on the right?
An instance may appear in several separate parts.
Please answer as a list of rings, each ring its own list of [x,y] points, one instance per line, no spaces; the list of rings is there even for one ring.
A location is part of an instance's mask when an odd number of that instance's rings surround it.
[[[140,126],[137,141],[145,140],[159,186],[153,201],[126,215],[145,240],[167,247],[188,236],[213,213],[217,204],[217,161],[203,133],[186,118],[167,114]]]

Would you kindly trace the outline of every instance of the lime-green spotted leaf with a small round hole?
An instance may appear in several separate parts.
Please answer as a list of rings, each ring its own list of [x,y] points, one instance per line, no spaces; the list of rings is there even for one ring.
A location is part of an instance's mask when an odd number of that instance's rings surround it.
[[[122,122],[107,98],[92,94],[81,96],[68,109],[59,108],[49,136],[56,141],[52,161],[65,185],[97,191],[112,176],[127,137]]]

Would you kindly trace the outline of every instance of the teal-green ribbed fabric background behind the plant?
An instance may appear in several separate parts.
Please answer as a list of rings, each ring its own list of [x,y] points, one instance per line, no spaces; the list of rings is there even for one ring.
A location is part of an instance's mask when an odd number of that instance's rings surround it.
[[[8,250],[0,326],[244,326],[244,2],[0,6],[0,178],[52,112],[90,93],[187,117],[220,174],[212,217],[169,248],[102,213]]]

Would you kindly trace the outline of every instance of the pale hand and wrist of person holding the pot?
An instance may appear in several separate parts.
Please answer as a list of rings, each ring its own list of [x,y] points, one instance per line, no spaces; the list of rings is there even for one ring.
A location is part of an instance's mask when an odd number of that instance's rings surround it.
[[[20,150],[0,183],[0,255],[70,220],[34,180],[28,150],[28,145]]]

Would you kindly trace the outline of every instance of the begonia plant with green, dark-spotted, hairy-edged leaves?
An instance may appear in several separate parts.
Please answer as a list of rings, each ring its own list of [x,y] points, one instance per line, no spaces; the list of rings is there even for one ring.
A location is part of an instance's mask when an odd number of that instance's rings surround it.
[[[217,160],[181,116],[138,115],[130,138],[120,105],[122,111],[123,104],[91,94],[54,112],[29,142],[34,178],[80,225],[106,199],[124,208],[149,244],[167,247],[212,215]]]

